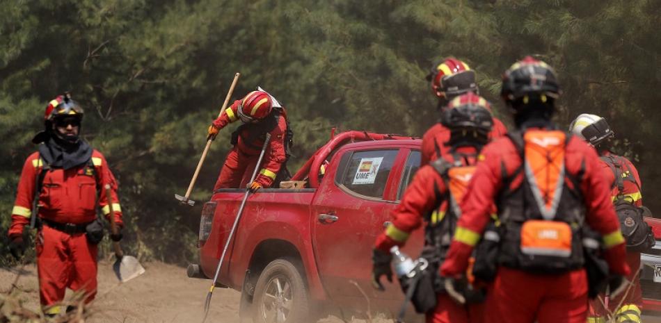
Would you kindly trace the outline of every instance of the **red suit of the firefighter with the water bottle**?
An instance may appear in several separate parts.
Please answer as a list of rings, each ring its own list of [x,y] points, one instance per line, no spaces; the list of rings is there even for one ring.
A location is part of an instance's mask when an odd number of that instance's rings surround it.
[[[460,147],[457,152],[472,155],[462,160],[463,165],[475,165],[477,149]],[[452,154],[443,155],[443,158],[451,162],[454,159]],[[392,224],[376,238],[375,247],[385,252],[390,252],[390,248],[395,245],[401,247],[408,239],[408,235],[422,226],[424,216],[431,213],[439,202],[439,209],[447,210],[447,201],[437,201],[436,188],[441,195],[445,195],[448,189],[436,169],[431,165],[423,165],[406,188],[399,206],[393,211]],[[427,323],[482,322],[481,316],[477,315],[481,310],[481,304],[472,304],[469,307],[457,304],[445,293],[438,294],[436,308],[431,313],[427,313]]]

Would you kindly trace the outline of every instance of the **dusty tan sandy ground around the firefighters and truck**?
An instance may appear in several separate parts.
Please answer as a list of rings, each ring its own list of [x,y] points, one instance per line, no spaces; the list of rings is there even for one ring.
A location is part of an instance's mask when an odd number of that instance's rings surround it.
[[[90,323],[175,323],[202,322],[204,301],[210,281],[189,279],[186,270],[164,263],[143,264],[146,272],[132,281],[118,283],[111,263],[99,263],[99,295],[93,304],[95,315]],[[16,268],[0,269],[0,292],[9,290]],[[38,286],[34,265],[24,268],[17,286],[24,293],[27,308],[38,310]],[[67,293],[70,297],[70,293]],[[218,288],[214,291],[207,322],[239,323],[239,292]],[[365,322],[353,320],[352,323]],[[373,323],[392,320],[377,319]],[[644,316],[645,323],[661,323],[661,317]],[[327,317],[319,323],[342,323]]]

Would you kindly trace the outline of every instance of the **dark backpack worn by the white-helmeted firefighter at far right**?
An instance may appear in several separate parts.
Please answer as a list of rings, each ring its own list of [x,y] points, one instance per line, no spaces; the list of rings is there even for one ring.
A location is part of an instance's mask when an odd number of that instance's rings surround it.
[[[632,176],[630,169],[623,170],[623,158],[619,156],[602,156],[603,160],[608,167],[610,167],[615,181],[612,188],[617,188],[617,196],[613,204],[615,206],[615,213],[620,220],[620,230],[626,240],[627,251],[645,252],[649,251],[656,243],[652,228],[645,222],[643,214],[645,209],[635,206],[632,197],[624,194],[624,181],[630,181],[636,184],[638,191],[640,186],[635,178]]]

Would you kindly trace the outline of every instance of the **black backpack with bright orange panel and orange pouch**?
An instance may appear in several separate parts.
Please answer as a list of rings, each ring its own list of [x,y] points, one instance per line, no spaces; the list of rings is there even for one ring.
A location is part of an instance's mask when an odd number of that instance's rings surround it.
[[[502,165],[503,190],[497,197],[502,222],[498,263],[531,273],[561,274],[584,265],[584,169],[566,172],[562,131],[508,133],[521,165],[508,174]],[[516,184],[515,184],[516,183]]]

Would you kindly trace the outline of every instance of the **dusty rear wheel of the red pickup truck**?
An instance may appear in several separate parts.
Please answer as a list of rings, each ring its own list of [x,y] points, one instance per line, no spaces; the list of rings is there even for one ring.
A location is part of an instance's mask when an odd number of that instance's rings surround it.
[[[307,323],[308,287],[292,263],[271,261],[257,279],[253,295],[254,323]]]

